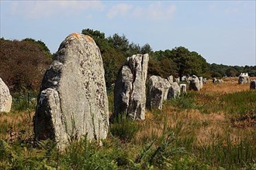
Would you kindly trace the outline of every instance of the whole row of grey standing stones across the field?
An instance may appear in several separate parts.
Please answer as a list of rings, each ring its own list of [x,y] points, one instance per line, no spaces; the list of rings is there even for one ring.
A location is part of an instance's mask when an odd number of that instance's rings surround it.
[[[149,109],[160,109],[166,99],[186,93],[186,84],[150,76],[146,97],[147,54],[128,57],[120,68],[114,87],[113,117],[126,114],[133,120],[145,119]],[[106,138],[109,131],[109,101],[99,47],[90,36],[73,33],[59,47],[54,61],[43,76],[33,118],[36,140],[50,138],[62,150],[81,136],[88,140]],[[177,81],[177,80],[176,80]],[[192,76],[189,90],[200,90],[202,77]],[[256,81],[251,81],[256,89]],[[0,111],[9,112],[12,96],[0,78]]]

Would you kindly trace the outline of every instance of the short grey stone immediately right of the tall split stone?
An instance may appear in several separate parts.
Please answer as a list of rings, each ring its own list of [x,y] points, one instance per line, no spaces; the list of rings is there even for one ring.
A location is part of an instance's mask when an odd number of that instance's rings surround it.
[[[148,81],[147,107],[150,110],[162,109],[164,100],[164,84],[161,76],[150,76]]]

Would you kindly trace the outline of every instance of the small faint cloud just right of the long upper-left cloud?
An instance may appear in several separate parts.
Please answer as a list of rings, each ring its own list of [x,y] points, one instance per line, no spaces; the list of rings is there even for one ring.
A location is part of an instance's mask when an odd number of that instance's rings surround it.
[[[107,14],[107,17],[109,19],[112,19],[116,16],[119,16],[119,15],[126,15],[127,12],[130,11],[130,8],[132,8],[133,6],[132,5],[128,5],[128,4],[118,4],[118,5],[114,5],[112,6],[112,8],[110,8],[108,14]]]

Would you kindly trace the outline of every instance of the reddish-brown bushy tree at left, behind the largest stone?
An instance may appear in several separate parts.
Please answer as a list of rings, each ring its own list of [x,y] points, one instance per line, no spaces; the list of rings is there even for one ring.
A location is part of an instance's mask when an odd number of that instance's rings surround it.
[[[33,39],[0,40],[0,77],[12,92],[39,89],[51,62],[42,44]]]

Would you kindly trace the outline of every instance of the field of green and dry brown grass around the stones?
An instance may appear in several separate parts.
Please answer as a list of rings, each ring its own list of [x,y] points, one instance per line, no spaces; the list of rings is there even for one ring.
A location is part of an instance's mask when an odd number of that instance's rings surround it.
[[[0,114],[0,169],[256,169],[256,91],[237,78],[167,100],[145,121],[119,117],[102,147],[85,136],[64,152],[33,141],[35,104],[21,102]]]

